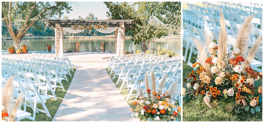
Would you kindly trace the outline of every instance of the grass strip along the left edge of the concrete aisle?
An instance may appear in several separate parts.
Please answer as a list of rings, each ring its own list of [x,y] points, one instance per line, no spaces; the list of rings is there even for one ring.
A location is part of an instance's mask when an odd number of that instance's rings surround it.
[[[62,102],[63,97],[66,94],[66,91],[68,90],[68,88],[70,86],[70,83],[72,82],[72,78],[73,78],[74,73],[76,72],[76,68],[73,67],[73,70],[74,70],[74,72],[72,72],[72,70],[70,70],[72,77],[70,77],[70,75],[67,75],[69,82],[67,82],[66,80],[62,81],[62,84],[63,84],[63,87],[65,90],[62,90],[62,88],[56,88],[55,95],[56,95],[58,100],[55,100],[54,98],[50,98],[45,103],[46,107],[49,110],[51,117],[48,117],[46,115],[46,113],[39,112],[39,113],[36,113],[36,120],[35,121],[51,121],[53,119],[55,113],[58,110],[60,103]],[[57,84],[60,85],[59,83],[57,83]],[[50,91],[48,92],[48,94],[52,95],[52,93]],[[37,108],[44,110],[44,108],[42,107],[42,105],[40,103],[37,104]],[[23,110],[23,106],[22,106],[21,110]],[[30,107],[27,107],[26,111],[30,112],[31,116],[33,116],[33,110]],[[32,121],[32,120],[25,118],[21,121]]]

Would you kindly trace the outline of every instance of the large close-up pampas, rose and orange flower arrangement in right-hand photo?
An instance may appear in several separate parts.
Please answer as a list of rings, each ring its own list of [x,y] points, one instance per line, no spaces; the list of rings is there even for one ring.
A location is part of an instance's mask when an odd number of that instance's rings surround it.
[[[233,50],[228,51],[224,15],[222,12],[220,15],[218,46],[207,34],[204,44],[194,39],[199,60],[192,65],[196,70],[183,80],[187,82],[183,88],[183,100],[201,99],[209,107],[210,102],[216,101],[222,108],[232,105],[236,113],[250,109],[254,114],[261,109],[258,105],[262,97],[262,82],[258,80],[262,78],[262,72],[253,71],[250,62],[262,45],[262,36],[248,50],[254,15],[248,16],[236,35]]]

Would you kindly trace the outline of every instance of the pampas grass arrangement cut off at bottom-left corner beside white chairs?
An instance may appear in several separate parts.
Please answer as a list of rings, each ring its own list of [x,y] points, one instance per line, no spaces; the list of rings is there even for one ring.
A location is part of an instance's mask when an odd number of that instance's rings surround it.
[[[14,121],[16,112],[23,101],[23,94],[21,94],[12,108],[13,79],[14,77],[10,77],[2,90],[2,121]]]

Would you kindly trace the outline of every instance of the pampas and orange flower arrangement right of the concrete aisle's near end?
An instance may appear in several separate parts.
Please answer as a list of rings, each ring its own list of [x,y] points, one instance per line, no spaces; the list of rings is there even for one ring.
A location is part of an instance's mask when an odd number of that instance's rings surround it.
[[[167,75],[165,75],[167,76]],[[165,85],[166,78],[161,80],[159,87],[156,90],[155,75],[152,72],[152,88],[149,89],[148,76],[146,75],[145,88],[146,93],[143,93],[139,87],[140,96],[135,99],[131,111],[132,116],[140,118],[144,121],[176,121],[176,116],[181,112],[181,107],[175,106],[175,102],[171,95],[175,94],[177,83],[171,84],[171,87],[165,93],[161,93]]]

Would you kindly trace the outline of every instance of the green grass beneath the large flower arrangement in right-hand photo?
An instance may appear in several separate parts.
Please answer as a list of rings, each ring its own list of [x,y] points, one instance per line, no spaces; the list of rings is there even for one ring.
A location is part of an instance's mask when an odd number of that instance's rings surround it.
[[[185,54],[185,48],[183,48],[183,56]],[[189,55],[190,50],[188,50]],[[182,76],[183,79],[188,76],[189,73],[193,70],[190,66],[187,65],[188,56],[186,62],[182,62],[183,71]],[[192,54],[191,62],[195,63],[196,55]],[[261,80],[260,80],[261,81]],[[185,87],[186,82],[183,82],[183,86]],[[251,112],[242,112],[235,113],[234,111],[224,111],[221,108],[216,107],[208,107],[202,100],[190,100],[186,102],[183,100],[182,104],[182,119],[183,121],[262,121],[262,110],[255,114]],[[262,103],[259,105],[262,109]]]

